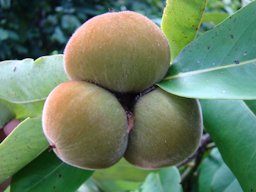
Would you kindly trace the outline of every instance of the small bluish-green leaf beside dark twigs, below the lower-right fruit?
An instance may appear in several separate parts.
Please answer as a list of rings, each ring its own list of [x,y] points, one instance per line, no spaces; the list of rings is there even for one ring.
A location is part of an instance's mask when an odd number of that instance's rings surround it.
[[[199,167],[198,191],[212,192],[211,182],[214,174],[222,164],[222,158],[219,151],[215,148],[210,155],[203,160]]]

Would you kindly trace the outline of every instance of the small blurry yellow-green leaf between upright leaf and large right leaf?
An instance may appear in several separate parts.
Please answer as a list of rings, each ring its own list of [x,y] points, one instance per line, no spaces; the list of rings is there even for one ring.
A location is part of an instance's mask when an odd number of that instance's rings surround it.
[[[228,17],[228,14],[224,12],[207,12],[203,14],[202,23],[210,22],[217,25],[227,17]]]

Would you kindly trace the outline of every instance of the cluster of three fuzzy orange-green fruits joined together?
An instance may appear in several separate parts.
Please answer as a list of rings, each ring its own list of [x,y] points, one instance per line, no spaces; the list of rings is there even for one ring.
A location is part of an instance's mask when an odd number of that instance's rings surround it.
[[[43,110],[43,130],[57,156],[84,169],[123,156],[155,169],[185,160],[202,132],[198,102],[154,87],[170,65],[162,31],[132,11],[85,22],[68,41],[64,68]]]

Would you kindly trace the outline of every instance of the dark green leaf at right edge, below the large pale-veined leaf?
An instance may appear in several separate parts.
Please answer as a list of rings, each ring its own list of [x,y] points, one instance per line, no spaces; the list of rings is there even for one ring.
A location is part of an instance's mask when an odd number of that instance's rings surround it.
[[[256,116],[244,101],[201,101],[204,125],[244,191],[256,191]]]

